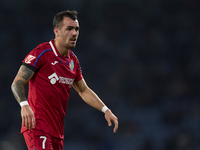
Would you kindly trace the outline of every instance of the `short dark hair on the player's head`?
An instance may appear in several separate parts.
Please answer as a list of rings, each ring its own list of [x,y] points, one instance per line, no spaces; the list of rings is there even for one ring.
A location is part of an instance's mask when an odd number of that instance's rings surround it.
[[[62,26],[62,21],[64,17],[69,17],[72,20],[77,20],[77,14],[78,12],[76,10],[64,10],[57,13],[53,18],[53,28]]]

